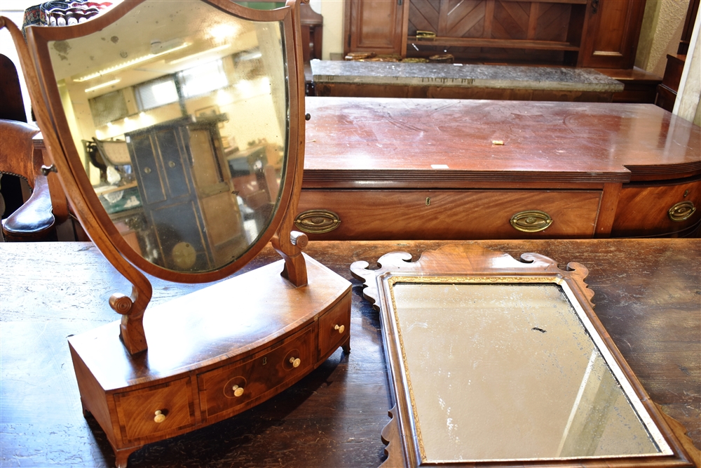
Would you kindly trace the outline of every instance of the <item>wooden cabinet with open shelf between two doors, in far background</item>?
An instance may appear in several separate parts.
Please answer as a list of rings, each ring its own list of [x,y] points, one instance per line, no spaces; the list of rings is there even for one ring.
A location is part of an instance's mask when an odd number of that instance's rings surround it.
[[[630,69],[645,3],[637,0],[465,2],[344,0],[343,53],[419,58],[451,53],[456,62]],[[435,33],[435,39],[417,37]]]

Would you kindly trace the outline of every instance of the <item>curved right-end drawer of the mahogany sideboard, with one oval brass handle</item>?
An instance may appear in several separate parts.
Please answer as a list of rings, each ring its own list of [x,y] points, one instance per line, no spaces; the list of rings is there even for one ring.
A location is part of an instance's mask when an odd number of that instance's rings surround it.
[[[624,186],[611,236],[684,234],[701,220],[701,180]]]

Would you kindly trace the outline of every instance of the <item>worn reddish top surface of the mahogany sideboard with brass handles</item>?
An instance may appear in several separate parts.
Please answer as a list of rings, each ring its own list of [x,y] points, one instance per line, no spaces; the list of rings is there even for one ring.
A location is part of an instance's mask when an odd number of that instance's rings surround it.
[[[651,104],[306,98],[304,187],[629,182],[701,173],[701,128]],[[503,142],[495,144],[494,142]]]

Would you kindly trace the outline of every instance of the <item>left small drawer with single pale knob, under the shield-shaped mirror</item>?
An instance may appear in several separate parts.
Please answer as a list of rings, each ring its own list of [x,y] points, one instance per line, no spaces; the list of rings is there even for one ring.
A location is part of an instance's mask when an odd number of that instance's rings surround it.
[[[190,379],[114,395],[123,443],[194,424]]]

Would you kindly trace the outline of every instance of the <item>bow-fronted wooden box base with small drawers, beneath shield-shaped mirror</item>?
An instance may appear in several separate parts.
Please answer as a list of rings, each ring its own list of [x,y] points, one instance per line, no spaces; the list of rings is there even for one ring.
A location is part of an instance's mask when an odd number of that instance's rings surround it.
[[[241,413],[298,382],[338,347],[350,352],[351,283],[311,258],[306,263],[308,284],[323,283],[335,295],[294,288],[280,276],[280,261],[149,309],[151,339],[142,354],[128,356],[116,323],[69,339],[83,411],[104,429],[118,468],[144,444]],[[259,290],[261,276],[278,282]],[[255,291],[268,299],[247,299]],[[183,324],[203,295],[217,307]],[[94,342],[102,352],[85,352]]]

